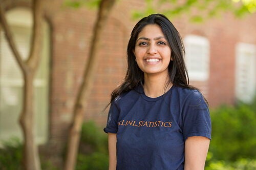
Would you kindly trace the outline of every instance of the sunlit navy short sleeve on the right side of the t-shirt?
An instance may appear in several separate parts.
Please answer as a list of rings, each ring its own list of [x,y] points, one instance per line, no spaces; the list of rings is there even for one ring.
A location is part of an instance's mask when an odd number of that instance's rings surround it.
[[[208,105],[199,91],[189,94],[183,112],[183,137],[203,136],[211,139],[211,120]]]

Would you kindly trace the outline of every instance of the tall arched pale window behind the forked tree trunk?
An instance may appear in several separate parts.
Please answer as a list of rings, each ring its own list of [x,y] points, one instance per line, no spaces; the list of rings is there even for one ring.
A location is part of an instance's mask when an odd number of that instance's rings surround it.
[[[17,8],[7,13],[7,20],[22,58],[28,57],[32,32],[32,15],[27,9]],[[43,51],[34,78],[35,135],[37,143],[48,137],[49,84],[49,29],[44,25]],[[22,73],[0,27],[0,141],[11,137],[22,139],[18,118],[23,99]]]

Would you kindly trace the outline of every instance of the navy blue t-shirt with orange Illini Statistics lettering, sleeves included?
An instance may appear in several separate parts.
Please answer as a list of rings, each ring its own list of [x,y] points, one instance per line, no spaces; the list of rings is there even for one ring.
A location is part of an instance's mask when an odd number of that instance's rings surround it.
[[[117,134],[117,169],[184,169],[190,136],[211,137],[208,106],[197,90],[173,86],[157,98],[141,86],[112,102],[106,133]]]

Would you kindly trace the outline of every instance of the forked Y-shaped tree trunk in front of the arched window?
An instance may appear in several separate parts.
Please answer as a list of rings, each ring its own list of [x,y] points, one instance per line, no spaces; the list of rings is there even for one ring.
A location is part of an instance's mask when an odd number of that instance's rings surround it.
[[[12,33],[6,21],[5,11],[0,6],[0,20],[5,31],[6,39],[18,62],[24,78],[23,110],[19,117],[19,122],[24,135],[23,148],[23,169],[38,170],[40,169],[40,160],[38,148],[34,141],[34,108],[33,108],[33,78],[38,68],[40,60],[41,42],[42,42],[42,1],[33,0],[33,35],[28,60],[23,61],[17,47],[14,43]]]

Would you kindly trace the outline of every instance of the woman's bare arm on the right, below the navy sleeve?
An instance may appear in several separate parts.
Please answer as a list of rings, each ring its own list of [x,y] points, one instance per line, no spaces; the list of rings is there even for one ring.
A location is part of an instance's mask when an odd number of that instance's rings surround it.
[[[185,141],[185,170],[204,169],[210,139],[203,136],[188,137]]]

